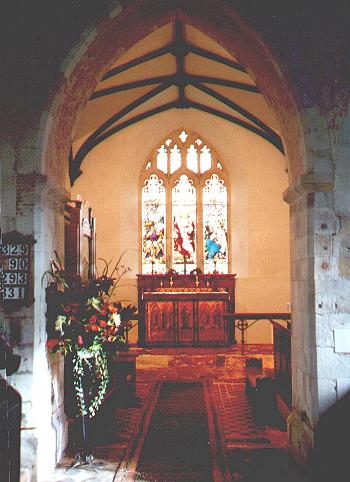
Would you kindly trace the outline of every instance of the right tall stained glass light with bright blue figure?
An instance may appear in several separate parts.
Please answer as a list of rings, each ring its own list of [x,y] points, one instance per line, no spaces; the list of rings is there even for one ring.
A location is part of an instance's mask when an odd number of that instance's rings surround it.
[[[216,174],[203,188],[203,236],[204,273],[227,273],[227,188]]]

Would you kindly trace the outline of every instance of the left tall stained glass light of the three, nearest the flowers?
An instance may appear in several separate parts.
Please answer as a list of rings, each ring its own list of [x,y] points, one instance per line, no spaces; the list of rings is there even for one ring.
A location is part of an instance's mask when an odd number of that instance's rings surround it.
[[[142,188],[142,272],[165,273],[166,195],[163,181],[152,174]]]

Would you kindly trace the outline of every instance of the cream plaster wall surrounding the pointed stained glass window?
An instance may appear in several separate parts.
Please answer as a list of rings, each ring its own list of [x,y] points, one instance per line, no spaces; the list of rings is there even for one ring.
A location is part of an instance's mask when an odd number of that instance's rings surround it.
[[[182,126],[217,149],[229,175],[236,311],[284,312],[290,301],[288,206],[282,201],[288,183],[285,159],[253,134],[193,110],[163,113],[99,144],[85,158],[83,174],[72,188],[72,198],[87,200],[96,217],[97,258],[115,262],[127,249],[124,261],[131,272],[122,284],[131,286],[121,286],[116,296],[137,301],[140,172],[160,139]],[[248,331],[247,341],[270,343],[269,323]]]

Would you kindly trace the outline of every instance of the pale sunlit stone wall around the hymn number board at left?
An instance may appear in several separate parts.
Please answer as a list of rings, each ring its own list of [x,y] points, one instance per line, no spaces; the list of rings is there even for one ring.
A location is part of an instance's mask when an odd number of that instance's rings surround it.
[[[49,477],[66,445],[62,400],[62,360],[50,357],[46,348],[45,284],[54,250],[63,246],[63,204],[67,194],[45,176],[35,174],[35,149],[7,151],[1,184],[3,232],[17,230],[32,235],[34,244],[34,303],[14,312],[1,310],[5,336],[21,356],[19,370],[8,377],[22,397],[21,474],[23,481]],[[16,162],[20,159],[21,162]],[[28,172],[29,171],[29,172]]]

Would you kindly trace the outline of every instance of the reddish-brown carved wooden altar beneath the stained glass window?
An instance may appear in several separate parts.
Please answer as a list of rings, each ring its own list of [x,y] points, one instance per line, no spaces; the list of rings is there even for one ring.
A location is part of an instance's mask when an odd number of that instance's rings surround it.
[[[138,275],[140,346],[225,346],[235,342],[235,275]]]

